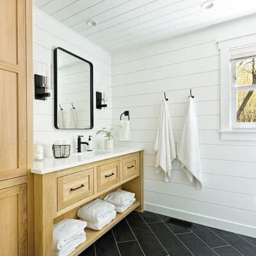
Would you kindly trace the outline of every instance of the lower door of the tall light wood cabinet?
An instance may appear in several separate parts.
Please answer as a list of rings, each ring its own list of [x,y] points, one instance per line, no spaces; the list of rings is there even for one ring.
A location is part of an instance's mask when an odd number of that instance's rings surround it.
[[[27,255],[26,184],[0,189],[0,255]]]

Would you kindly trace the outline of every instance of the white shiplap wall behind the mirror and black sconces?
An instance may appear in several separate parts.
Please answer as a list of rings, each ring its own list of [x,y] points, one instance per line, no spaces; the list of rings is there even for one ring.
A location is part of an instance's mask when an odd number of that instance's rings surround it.
[[[97,90],[104,92],[108,86],[108,108],[104,110],[94,108],[93,130],[61,131],[54,128],[53,49],[55,47],[63,47],[93,63],[94,92]],[[50,83],[52,88],[49,89],[49,92],[51,92],[52,97],[46,101],[34,100],[34,141],[49,145],[46,147],[49,149],[47,154],[51,154],[51,144],[54,140],[67,139],[72,143],[74,150],[77,135],[84,135],[84,140],[87,140],[88,135],[94,135],[96,129],[111,125],[111,54],[109,52],[63,26],[40,10],[33,8],[33,64],[34,73],[40,74],[45,67],[51,70]],[[93,97],[95,97],[95,93]]]

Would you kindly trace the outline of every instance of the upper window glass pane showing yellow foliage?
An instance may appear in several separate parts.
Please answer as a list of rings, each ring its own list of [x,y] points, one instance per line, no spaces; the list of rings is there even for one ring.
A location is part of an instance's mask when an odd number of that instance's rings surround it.
[[[236,86],[256,84],[256,56],[236,61]]]

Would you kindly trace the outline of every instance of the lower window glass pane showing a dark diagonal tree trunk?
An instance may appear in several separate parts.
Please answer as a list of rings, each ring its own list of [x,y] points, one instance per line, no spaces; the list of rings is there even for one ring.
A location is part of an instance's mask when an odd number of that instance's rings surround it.
[[[236,122],[256,122],[256,90],[236,93]]]

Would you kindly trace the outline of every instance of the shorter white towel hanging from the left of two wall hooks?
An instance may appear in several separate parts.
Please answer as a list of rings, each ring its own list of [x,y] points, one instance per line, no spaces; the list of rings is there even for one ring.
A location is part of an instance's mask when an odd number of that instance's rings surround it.
[[[154,145],[156,150],[155,167],[161,167],[165,172],[165,182],[171,177],[172,161],[177,157],[175,150],[175,141],[172,131],[172,122],[166,100],[163,100],[159,121],[156,142]]]

